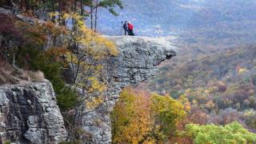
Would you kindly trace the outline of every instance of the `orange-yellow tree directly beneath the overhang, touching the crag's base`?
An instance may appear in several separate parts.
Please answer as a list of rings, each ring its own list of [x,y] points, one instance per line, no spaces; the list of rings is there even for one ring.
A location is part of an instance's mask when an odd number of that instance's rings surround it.
[[[123,90],[112,113],[112,120],[114,143],[143,142],[152,130],[148,98],[143,94],[136,95],[130,89]]]

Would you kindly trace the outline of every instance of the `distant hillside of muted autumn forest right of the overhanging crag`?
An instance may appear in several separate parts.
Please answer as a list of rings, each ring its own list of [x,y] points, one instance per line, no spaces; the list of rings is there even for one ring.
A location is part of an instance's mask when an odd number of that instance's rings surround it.
[[[238,121],[255,132],[255,55],[256,47],[246,45],[226,53],[174,58],[140,88],[188,98],[191,114],[203,124]]]

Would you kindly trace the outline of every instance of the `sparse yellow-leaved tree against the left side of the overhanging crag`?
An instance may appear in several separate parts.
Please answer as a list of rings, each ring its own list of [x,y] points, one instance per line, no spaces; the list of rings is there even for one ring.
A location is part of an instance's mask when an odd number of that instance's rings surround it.
[[[66,60],[77,67],[74,68],[78,73],[74,84],[93,96],[100,95],[106,90],[103,63],[106,58],[118,55],[118,50],[114,42],[87,28],[80,14],[65,13],[62,18],[74,22],[67,36],[69,51],[66,52]],[[88,82],[90,86],[86,86]]]

